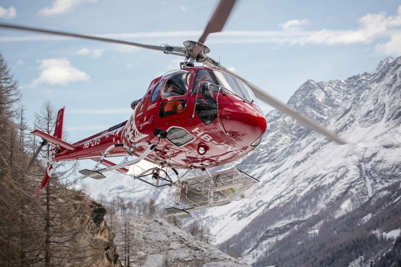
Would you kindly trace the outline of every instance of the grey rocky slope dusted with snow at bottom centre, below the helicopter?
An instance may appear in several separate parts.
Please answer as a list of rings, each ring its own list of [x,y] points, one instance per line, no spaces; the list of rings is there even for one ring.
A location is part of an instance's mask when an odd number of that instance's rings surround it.
[[[129,230],[126,231],[125,220]],[[211,244],[167,223],[164,219],[144,216],[118,217],[119,227],[115,227],[115,242],[120,259],[130,255],[131,266],[204,266],[204,267],[250,267],[224,254]],[[129,234],[128,234],[129,232]],[[129,253],[125,251],[126,236],[129,236]]]

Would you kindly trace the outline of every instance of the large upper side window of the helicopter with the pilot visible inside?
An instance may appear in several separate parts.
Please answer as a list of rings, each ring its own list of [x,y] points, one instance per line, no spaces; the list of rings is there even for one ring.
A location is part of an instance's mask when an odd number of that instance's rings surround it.
[[[161,96],[163,98],[183,96],[188,91],[190,73],[179,71],[172,74],[166,81]]]

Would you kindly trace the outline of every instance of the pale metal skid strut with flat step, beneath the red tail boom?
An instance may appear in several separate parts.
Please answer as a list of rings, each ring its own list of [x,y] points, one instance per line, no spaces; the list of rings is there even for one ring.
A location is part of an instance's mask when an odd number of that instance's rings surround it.
[[[106,168],[98,169],[99,165],[102,163],[104,158],[109,155],[110,150],[112,150],[115,147],[119,147],[119,146],[122,146],[122,147],[127,149],[127,154],[121,160],[121,162],[116,164],[116,165],[114,165],[114,166],[109,166],[109,167],[106,167]],[[140,146],[147,146],[147,148],[145,149],[145,151],[143,151],[143,153],[139,157],[137,157],[134,160],[128,161],[128,157],[131,156],[132,152],[136,148],[138,148]],[[80,170],[79,173],[81,173],[83,175],[83,176],[81,176],[81,178],[86,178],[86,177],[91,177],[91,178],[94,178],[94,179],[106,178],[106,176],[104,176],[103,172],[110,171],[110,170],[121,169],[121,168],[124,168],[126,166],[136,164],[139,161],[141,161],[142,159],[144,159],[154,149],[155,146],[156,145],[149,144],[147,142],[141,142],[141,143],[132,145],[131,147],[128,147],[127,145],[123,145],[123,144],[111,145],[101,154],[100,158],[97,160],[95,166],[91,170],[84,169],[84,170]]]

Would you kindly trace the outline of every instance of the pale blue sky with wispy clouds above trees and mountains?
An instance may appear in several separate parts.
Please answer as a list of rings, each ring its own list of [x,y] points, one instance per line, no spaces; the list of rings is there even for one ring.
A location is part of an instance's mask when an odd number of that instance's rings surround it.
[[[145,44],[197,40],[217,1],[0,1],[0,20]],[[345,79],[401,54],[401,1],[238,1],[210,56],[282,101],[307,79]],[[28,120],[66,106],[71,141],[128,119],[150,81],[179,67],[160,52],[0,30]]]

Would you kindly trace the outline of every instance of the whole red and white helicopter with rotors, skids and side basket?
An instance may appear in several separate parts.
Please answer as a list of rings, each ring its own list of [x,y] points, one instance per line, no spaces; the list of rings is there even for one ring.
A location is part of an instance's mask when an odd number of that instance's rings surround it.
[[[246,156],[262,141],[267,123],[256,98],[298,120],[304,126],[338,144],[346,144],[336,134],[311,118],[282,103],[256,85],[238,76],[207,56],[205,45],[210,34],[222,32],[235,0],[221,0],[198,41],[185,41],[181,46],[154,46],[96,36],[0,24],[0,28],[30,31],[72,38],[135,46],[183,57],[180,69],[155,78],[143,97],[131,103],[130,118],[104,131],[75,143],[63,140],[65,108],[58,111],[54,134],[34,130],[43,141],[35,151],[30,166],[43,146],[51,145],[48,167],[38,194],[46,187],[61,161],[92,159],[92,169],[79,172],[82,178],[103,179],[107,171],[127,173],[127,167],[141,160],[157,167],[136,176],[155,187],[174,185],[175,207],[169,215],[190,216],[189,211],[228,204],[251,196],[258,180],[234,168],[210,173],[209,168],[224,165]],[[195,66],[195,63],[203,64]],[[132,159],[131,156],[135,156]],[[119,163],[107,160],[123,157]],[[129,159],[131,157],[131,159]],[[100,164],[105,167],[99,167]],[[171,169],[176,179],[170,177]],[[177,169],[200,169],[205,175],[183,179]],[[151,180],[144,179],[151,176]],[[175,180],[175,181],[174,181]],[[183,208],[178,208],[181,205]]]

